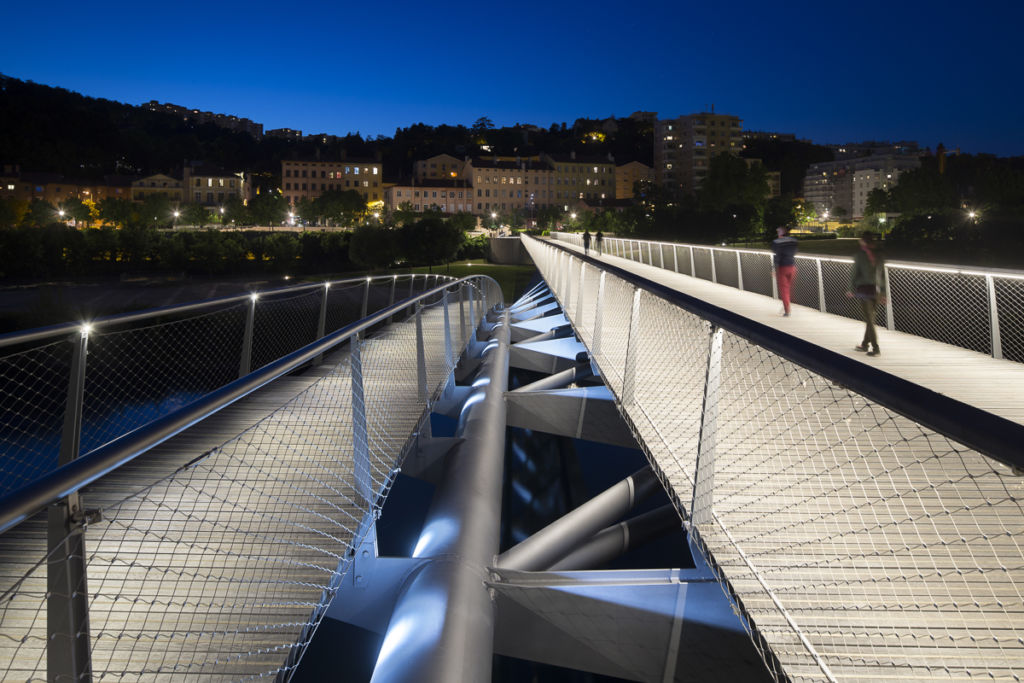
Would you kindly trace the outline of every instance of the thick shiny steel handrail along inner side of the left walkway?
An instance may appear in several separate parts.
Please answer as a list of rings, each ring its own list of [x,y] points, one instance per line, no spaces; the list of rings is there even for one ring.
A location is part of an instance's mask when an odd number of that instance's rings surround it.
[[[391,276],[388,278],[390,279]],[[353,323],[318,339],[297,351],[279,358],[268,366],[264,366],[254,373],[224,385],[220,389],[170,415],[166,415],[163,418],[159,418],[138,429],[128,432],[53,470],[29,485],[0,499],[0,533],[16,526],[51,502],[80,490],[104,474],[184,431],[189,426],[226,408],[278,378],[287,375],[300,366],[309,362],[317,355],[344,343],[353,335],[366,332],[373,326],[387,321],[388,317],[403,308],[436,296],[462,283],[468,282],[472,284],[480,280],[490,281],[494,287],[500,287],[488,275],[471,275],[445,283],[418,296],[407,298],[357,323]],[[318,285],[318,287],[323,287],[323,285]],[[482,311],[487,310],[486,303],[486,301],[482,302]]]

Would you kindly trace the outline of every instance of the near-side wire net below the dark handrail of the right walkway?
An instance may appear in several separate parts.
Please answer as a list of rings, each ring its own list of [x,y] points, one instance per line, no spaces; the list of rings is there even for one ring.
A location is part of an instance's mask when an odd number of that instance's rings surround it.
[[[632,332],[592,330],[596,360],[778,679],[1021,679],[1024,477],[604,282]]]

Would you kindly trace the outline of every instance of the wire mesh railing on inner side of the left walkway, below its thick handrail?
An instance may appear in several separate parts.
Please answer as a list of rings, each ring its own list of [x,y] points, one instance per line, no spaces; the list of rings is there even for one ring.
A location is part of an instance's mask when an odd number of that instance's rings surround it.
[[[51,510],[0,535],[0,679],[85,678],[61,674],[77,641],[95,680],[288,680],[429,403],[501,301],[489,280],[450,289],[366,339],[369,323],[305,349],[347,340],[297,395],[271,384],[86,485],[67,532],[51,522],[47,538]],[[84,550],[69,556],[76,535]],[[81,575],[54,584],[66,564]],[[86,615],[54,626],[76,597]]]

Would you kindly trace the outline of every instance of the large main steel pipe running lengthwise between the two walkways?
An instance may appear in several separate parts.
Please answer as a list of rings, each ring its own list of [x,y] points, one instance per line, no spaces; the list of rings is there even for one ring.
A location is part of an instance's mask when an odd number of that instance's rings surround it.
[[[415,557],[430,558],[398,596],[372,683],[490,680],[494,602],[487,567],[498,552],[505,462],[509,315],[492,331],[463,442],[445,463]]]

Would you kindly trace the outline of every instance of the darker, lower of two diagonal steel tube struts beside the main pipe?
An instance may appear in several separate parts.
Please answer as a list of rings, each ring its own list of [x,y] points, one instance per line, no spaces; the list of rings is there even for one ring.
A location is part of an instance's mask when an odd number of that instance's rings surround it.
[[[590,541],[578,546],[575,550],[549,566],[548,571],[574,571],[602,567],[630,550],[681,526],[679,513],[671,503],[667,503],[656,510],[601,529]]]

